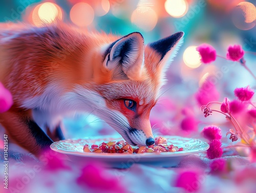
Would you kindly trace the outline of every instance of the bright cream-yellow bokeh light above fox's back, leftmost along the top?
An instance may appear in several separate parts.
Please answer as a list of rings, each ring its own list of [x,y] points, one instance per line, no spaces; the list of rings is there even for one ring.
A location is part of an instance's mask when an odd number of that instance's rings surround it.
[[[51,24],[62,19],[62,11],[56,4],[46,2],[36,6],[32,12],[32,22],[36,26]]]

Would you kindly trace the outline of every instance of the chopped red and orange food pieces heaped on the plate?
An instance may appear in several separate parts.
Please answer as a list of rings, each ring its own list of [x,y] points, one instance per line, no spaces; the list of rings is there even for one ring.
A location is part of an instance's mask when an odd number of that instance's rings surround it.
[[[156,137],[155,144],[150,146],[132,146],[124,140],[102,142],[99,145],[86,144],[83,146],[83,152],[93,153],[123,153],[123,154],[142,154],[142,153],[161,153],[161,152],[180,152],[182,147],[167,144],[164,137]]]

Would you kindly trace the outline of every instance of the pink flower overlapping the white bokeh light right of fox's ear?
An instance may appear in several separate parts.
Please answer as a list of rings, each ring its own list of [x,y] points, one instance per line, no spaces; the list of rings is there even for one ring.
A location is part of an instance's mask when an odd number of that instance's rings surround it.
[[[210,63],[216,60],[216,50],[208,44],[201,44],[197,47],[203,63]]]

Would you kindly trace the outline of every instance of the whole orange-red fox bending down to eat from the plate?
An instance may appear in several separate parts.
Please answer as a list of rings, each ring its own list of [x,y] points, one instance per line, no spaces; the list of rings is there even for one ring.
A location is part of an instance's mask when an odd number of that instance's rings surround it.
[[[182,36],[144,45],[139,32],[120,37],[64,24],[2,28],[0,81],[14,104],[0,123],[33,154],[56,136],[63,139],[61,117],[76,112],[93,113],[132,145],[154,144],[150,111]]]

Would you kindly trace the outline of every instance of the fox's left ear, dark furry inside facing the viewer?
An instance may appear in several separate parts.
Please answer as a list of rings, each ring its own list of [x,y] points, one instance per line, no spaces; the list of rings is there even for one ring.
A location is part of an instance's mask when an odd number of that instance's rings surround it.
[[[113,72],[114,79],[138,79],[144,62],[144,39],[138,32],[113,42],[106,50],[104,65]]]

